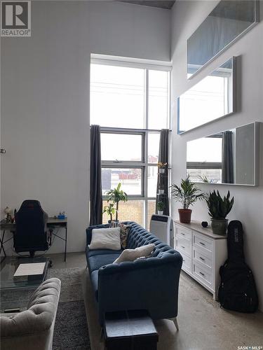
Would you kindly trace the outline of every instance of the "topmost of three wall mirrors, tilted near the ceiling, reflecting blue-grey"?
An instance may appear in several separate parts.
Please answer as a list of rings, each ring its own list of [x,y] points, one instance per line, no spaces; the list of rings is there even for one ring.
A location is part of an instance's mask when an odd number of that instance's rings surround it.
[[[259,20],[257,0],[222,0],[187,40],[187,77],[219,56]]]

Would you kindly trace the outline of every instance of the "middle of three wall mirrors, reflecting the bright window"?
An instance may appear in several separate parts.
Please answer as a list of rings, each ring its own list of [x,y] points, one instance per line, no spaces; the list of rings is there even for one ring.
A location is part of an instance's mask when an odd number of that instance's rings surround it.
[[[234,112],[235,71],[232,57],[177,98],[178,134]]]

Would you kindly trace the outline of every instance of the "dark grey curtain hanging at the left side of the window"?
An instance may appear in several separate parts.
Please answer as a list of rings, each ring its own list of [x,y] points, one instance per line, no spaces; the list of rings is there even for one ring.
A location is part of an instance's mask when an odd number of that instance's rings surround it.
[[[90,127],[90,225],[102,223],[100,126]]]

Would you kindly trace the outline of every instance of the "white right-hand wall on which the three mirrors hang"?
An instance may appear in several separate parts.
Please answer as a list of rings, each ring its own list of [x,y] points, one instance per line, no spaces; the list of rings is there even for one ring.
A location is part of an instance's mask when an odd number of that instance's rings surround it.
[[[232,116],[217,120],[210,125],[178,136],[173,132],[173,183],[179,183],[186,174],[186,143],[208,134],[214,134],[228,128],[234,128],[254,121],[263,122],[263,22],[260,22],[245,36],[240,38],[196,77],[187,80],[187,38],[203,22],[206,16],[217,5],[218,1],[176,1],[172,12],[172,58],[173,58],[173,130],[177,130],[176,97],[201,78],[220,66],[231,56],[238,59],[238,112]],[[263,5],[263,3],[261,3]],[[261,6],[262,10],[263,6]],[[263,128],[261,128],[261,139]],[[260,144],[260,178],[255,188],[243,186],[202,185],[205,191],[220,190],[220,193],[231,191],[235,197],[234,208],[229,220],[237,219],[243,223],[245,231],[245,257],[255,274],[259,293],[260,309],[263,309],[263,142]],[[177,216],[179,206],[173,202],[173,216]],[[198,203],[193,208],[193,219],[209,220],[205,203]]]

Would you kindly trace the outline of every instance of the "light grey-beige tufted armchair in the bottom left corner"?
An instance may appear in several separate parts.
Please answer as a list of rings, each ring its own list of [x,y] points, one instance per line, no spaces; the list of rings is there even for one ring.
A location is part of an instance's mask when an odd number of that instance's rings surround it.
[[[1,350],[51,350],[61,282],[47,279],[34,291],[26,311],[1,314]]]

